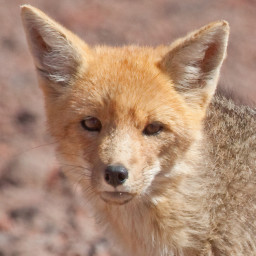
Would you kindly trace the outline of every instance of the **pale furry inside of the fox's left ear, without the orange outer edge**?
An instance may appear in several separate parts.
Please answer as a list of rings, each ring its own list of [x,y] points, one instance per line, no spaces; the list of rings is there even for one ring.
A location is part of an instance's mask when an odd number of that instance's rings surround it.
[[[78,51],[64,29],[30,8],[23,12],[22,17],[39,75],[54,83],[69,83],[80,61]]]

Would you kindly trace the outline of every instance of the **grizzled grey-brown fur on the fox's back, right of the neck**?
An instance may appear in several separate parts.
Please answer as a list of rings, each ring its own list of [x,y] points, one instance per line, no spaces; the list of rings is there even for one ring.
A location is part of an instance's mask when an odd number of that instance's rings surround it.
[[[256,110],[216,94],[204,128],[215,255],[256,255]]]

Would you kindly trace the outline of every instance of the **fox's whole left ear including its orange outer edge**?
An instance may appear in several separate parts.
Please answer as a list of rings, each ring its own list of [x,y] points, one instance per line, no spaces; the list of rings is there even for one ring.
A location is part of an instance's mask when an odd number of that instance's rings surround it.
[[[70,85],[87,68],[88,46],[30,5],[21,6],[21,16],[39,78],[58,91]]]

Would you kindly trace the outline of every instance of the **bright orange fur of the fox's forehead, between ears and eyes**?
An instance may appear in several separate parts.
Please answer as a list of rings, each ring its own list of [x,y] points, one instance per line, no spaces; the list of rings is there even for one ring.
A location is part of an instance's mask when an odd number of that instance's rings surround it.
[[[165,52],[164,47],[94,48],[88,70],[74,86],[73,105],[91,111],[88,115],[115,120],[141,113],[143,123],[184,113],[183,99],[156,65]]]

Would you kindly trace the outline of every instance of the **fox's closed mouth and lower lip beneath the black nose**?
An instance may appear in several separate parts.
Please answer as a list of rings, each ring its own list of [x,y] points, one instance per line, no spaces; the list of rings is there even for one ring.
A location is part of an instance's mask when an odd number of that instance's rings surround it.
[[[103,201],[110,204],[126,204],[134,197],[133,194],[127,192],[101,192],[100,197]]]

